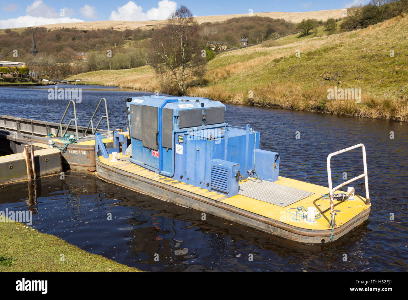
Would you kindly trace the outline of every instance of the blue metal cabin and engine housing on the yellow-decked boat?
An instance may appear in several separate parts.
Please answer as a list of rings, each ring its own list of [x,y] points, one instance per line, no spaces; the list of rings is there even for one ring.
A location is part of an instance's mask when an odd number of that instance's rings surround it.
[[[279,153],[259,149],[259,132],[229,126],[225,105],[209,98],[143,96],[126,99],[131,158],[141,167],[197,187],[235,196],[248,176],[276,181]],[[127,141],[116,131],[114,147]],[[119,152],[119,151],[118,151]],[[256,175],[255,175],[256,171]]]

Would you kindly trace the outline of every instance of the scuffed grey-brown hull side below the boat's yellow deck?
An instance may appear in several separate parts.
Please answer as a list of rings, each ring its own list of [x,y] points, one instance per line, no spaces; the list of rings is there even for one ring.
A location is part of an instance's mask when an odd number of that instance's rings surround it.
[[[232,205],[200,196],[171,185],[158,182],[134,173],[130,173],[96,159],[96,173],[99,178],[121,187],[137,191],[139,193],[179,204],[197,210],[197,219],[202,213],[223,218],[264,233],[273,234],[281,238],[307,244],[322,244],[331,242],[332,230],[313,230],[295,227],[279,220],[266,218],[256,213],[239,209]],[[354,218],[348,220],[333,230],[333,240],[338,240],[349,231],[361,225],[368,219],[370,207],[361,211]]]

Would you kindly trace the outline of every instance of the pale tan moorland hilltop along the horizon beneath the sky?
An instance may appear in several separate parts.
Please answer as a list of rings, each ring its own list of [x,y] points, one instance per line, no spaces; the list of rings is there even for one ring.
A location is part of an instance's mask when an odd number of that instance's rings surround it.
[[[317,20],[327,20],[328,18],[341,18],[343,13],[342,9],[331,9],[324,11],[308,11],[299,13],[287,13],[287,12],[266,12],[266,13],[253,13],[253,16],[269,17],[273,19],[284,19],[286,21],[298,23],[305,18],[315,18]],[[235,15],[221,15],[221,16],[199,16],[195,17],[195,20],[199,23],[205,22],[222,22],[231,18],[239,18],[248,16],[248,13],[241,13]],[[76,23],[59,23],[40,25],[35,27],[45,27],[47,29],[60,29],[60,28],[73,28],[73,29],[109,29],[125,30],[125,29],[151,29],[152,27],[160,27],[160,25],[166,24],[166,20],[154,20],[154,21],[91,21],[91,22],[76,22]]]

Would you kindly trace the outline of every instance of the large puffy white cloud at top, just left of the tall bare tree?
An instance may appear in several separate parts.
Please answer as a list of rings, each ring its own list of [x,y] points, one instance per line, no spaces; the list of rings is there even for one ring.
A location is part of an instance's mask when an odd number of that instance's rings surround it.
[[[112,11],[109,20],[111,21],[146,21],[164,20],[169,18],[171,13],[177,9],[177,3],[171,0],[159,1],[158,7],[152,7],[146,13],[141,6],[129,1],[125,5],[118,7],[118,11]]]

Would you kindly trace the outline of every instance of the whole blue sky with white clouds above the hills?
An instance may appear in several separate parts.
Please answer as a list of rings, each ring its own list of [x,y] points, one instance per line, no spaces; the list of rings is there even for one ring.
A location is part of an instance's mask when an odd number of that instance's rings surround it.
[[[342,9],[369,0],[0,0],[0,29],[97,20],[163,20],[181,5],[194,16]]]

